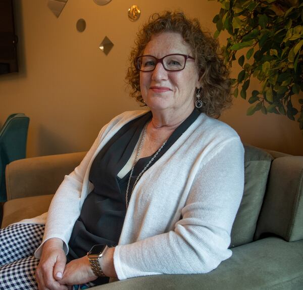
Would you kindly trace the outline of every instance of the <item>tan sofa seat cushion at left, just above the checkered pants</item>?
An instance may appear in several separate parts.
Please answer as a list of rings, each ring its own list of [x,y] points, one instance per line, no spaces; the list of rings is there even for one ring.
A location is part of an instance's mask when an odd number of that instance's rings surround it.
[[[54,195],[21,198],[4,204],[4,216],[1,227],[6,227],[22,219],[33,218],[48,211]]]

